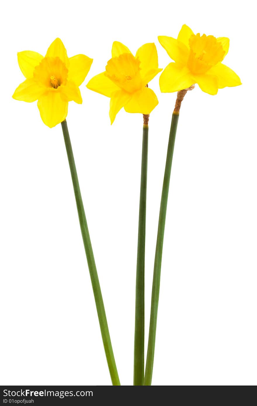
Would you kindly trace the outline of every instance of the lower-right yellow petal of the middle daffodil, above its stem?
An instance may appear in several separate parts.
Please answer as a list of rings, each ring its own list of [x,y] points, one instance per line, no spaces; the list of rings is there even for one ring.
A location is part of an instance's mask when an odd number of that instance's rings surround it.
[[[124,109],[128,113],[150,114],[157,104],[158,99],[152,89],[144,87],[133,94],[130,101],[125,104]]]

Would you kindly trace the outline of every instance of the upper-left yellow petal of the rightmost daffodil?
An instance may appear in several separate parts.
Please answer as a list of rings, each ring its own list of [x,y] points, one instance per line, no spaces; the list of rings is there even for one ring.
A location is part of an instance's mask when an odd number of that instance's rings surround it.
[[[164,35],[160,35],[158,40],[171,59],[181,65],[186,65],[189,51],[183,42]]]

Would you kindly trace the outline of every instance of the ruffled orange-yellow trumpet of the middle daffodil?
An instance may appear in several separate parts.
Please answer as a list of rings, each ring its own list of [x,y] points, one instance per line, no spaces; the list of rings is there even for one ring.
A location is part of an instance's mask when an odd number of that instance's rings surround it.
[[[106,65],[105,75],[121,89],[133,93],[141,89],[140,60],[132,54],[121,54]]]

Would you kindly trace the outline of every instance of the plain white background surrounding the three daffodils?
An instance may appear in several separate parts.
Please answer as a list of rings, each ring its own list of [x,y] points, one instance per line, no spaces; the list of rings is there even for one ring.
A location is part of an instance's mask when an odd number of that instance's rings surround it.
[[[181,107],[163,247],[153,385],[255,385],[257,363],[256,32],[251,2],[4,2],[1,12],[1,384],[110,385],[61,126],[11,98],[17,51],[94,58],[67,123],[121,384],[133,383],[142,116],[85,84],[114,40],[132,52],[182,24],[229,37],[243,85],[198,86]],[[160,196],[175,93],[150,87],[146,345]]]

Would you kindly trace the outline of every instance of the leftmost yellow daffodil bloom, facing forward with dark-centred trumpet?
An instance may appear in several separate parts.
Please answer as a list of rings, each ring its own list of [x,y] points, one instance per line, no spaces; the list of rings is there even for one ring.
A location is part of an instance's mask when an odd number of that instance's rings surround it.
[[[68,58],[66,49],[56,38],[43,57],[37,52],[18,52],[19,67],[26,80],[13,94],[16,100],[37,102],[41,119],[54,127],[67,116],[68,102],[81,104],[78,86],[84,82],[93,59],[86,55]]]

